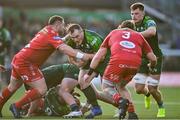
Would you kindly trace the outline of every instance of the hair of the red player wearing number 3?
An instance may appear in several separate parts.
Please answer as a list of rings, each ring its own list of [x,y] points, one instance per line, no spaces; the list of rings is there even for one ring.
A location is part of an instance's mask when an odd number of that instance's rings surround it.
[[[131,20],[125,20],[121,23],[121,25],[118,26],[118,28],[130,28],[135,30],[135,25]]]

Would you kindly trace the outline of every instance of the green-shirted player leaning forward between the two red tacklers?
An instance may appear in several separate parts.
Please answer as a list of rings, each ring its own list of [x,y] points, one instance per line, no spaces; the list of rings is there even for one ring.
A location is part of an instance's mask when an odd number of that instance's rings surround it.
[[[67,35],[68,35],[68,40],[67,44],[70,45],[74,49],[81,50],[84,53],[91,54],[92,58],[94,54],[98,51],[103,38],[97,34],[96,32],[82,29],[82,27],[79,24],[69,24],[66,28],[67,30]],[[69,57],[69,60],[71,63],[77,65],[80,67],[80,72],[78,76],[78,82],[81,87],[81,89],[85,92],[90,93],[90,98],[92,99],[91,101],[94,101],[93,103],[90,103],[92,105],[91,113],[87,116],[90,118],[93,118],[96,115],[101,115],[102,110],[100,106],[98,105],[97,98],[95,95],[95,92],[93,89],[90,89],[90,86],[83,87],[83,76],[86,74],[87,69],[89,68],[90,61],[86,63],[86,65],[81,65],[79,64],[80,61],[77,59],[74,59],[72,57]],[[64,97],[66,97],[65,92]],[[68,93],[67,93],[68,95]],[[66,99],[69,100],[69,99]],[[69,104],[72,104],[73,102],[69,102]],[[71,113],[69,114],[71,116]]]

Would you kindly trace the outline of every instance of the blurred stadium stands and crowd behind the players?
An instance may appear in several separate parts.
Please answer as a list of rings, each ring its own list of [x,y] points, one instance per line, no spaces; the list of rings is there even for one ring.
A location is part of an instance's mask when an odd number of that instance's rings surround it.
[[[0,0],[0,17],[12,35],[12,54],[6,60],[6,66],[10,66],[13,55],[28,43],[53,14],[63,16],[66,23],[76,22],[106,36],[122,20],[130,19],[129,6],[134,2],[143,2],[146,13],[157,22],[160,47],[164,53],[160,87],[164,92],[165,104],[172,105],[169,111],[173,112],[174,108],[177,110],[171,115],[169,112],[167,118],[180,119],[180,0]],[[66,56],[62,59],[59,54],[53,54],[43,67],[66,61]],[[132,93],[135,99],[143,99]],[[141,107],[139,109],[139,113],[144,110]],[[145,115],[142,118],[152,116]]]

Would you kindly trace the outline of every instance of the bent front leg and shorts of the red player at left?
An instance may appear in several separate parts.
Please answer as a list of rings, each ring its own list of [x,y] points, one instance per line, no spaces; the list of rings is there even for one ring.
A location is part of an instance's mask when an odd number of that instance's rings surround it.
[[[11,104],[10,110],[15,118],[21,117],[20,109],[22,106],[40,98],[47,90],[41,71],[35,66],[31,67],[33,67],[33,71],[30,71],[29,67],[21,66],[18,68],[18,74],[21,76],[24,83],[30,86],[31,89],[28,90],[28,92],[20,100]]]

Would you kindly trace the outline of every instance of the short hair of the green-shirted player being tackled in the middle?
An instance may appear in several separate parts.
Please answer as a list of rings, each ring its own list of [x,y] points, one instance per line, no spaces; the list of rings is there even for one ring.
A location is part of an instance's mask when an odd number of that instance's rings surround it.
[[[75,29],[82,30],[82,27],[79,24],[70,23],[66,27],[66,32],[73,33]]]

